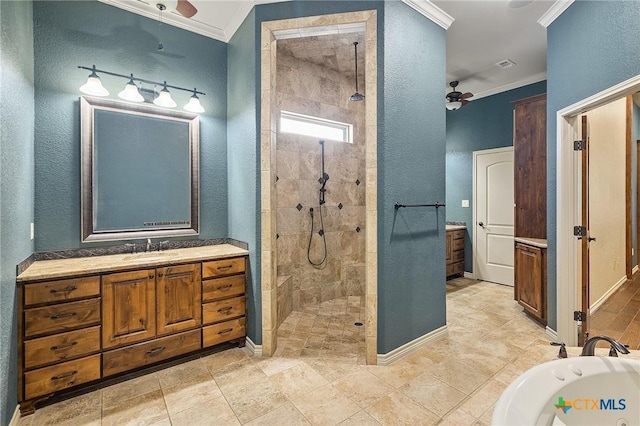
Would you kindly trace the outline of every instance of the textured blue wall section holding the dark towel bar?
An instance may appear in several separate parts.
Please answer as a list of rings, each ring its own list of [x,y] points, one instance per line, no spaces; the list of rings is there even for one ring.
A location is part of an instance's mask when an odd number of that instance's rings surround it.
[[[385,2],[378,117],[378,352],[445,325],[445,31]],[[381,137],[380,137],[381,136]]]

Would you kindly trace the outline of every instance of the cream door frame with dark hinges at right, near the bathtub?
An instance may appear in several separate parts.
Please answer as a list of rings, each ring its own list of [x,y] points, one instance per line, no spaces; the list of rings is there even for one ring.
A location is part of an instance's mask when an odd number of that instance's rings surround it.
[[[573,311],[581,305],[580,246],[573,226],[580,223],[580,161],[573,141],[580,139],[580,114],[640,91],[640,75],[575,102],[556,114],[556,331],[547,334],[569,346],[578,343]],[[549,114],[550,115],[550,114]],[[553,149],[550,147],[550,149]],[[553,242],[552,242],[553,243]],[[562,283],[562,285],[559,285]]]

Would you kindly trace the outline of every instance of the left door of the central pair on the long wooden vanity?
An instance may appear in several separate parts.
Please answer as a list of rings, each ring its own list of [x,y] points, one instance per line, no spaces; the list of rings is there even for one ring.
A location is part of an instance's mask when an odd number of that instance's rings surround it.
[[[102,347],[112,348],[156,335],[155,270],[102,278]]]

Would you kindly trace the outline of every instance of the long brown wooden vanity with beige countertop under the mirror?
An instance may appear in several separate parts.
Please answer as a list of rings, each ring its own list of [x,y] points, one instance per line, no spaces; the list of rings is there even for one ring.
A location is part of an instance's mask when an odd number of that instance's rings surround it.
[[[246,254],[220,245],[148,261],[142,253],[36,261],[18,276],[21,412],[204,348],[244,346]]]

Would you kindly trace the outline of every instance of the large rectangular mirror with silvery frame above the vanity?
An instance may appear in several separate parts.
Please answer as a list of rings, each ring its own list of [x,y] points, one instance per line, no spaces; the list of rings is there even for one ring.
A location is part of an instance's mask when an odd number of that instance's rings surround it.
[[[81,97],[82,240],[198,234],[199,118]]]

